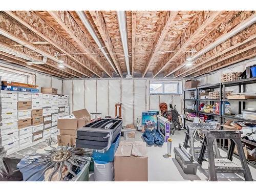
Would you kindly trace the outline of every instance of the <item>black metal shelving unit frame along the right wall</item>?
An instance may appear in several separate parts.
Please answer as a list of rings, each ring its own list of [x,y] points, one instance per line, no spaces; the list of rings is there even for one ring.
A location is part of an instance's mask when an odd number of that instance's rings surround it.
[[[193,112],[196,113],[197,116],[199,116],[200,114],[205,114],[208,115],[209,118],[216,118],[217,120],[219,118],[219,122],[220,124],[223,124],[226,122],[227,119],[232,119],[232,120],[240,120],[240,121],[244,121],[244,122],[248,122],[248,123],[255,123],[256,124],[256,120],[249,120],[249,119],[244,119],[241,117],[237,117],[234,115],[221,115],[222,113],[222,109],[225,109],[225,101],[232,101],[232,102],[238,102],[239,106],[239,114],[242,114],[242,110],[245,110],[245,106],[246,103],[250,102],[250,101],[256,101],[256,99],[227,99],[225,98],[226,95],[226,88],[227,87],[233,87],[233,86],[238,86],[239,88],[239,93],[245,93],[246,92],[246,85],[247,84],[252,84],[252,83],[256,83],[256,77],[255,78],[248,78],[248,79],[240,79],[237,81],[231,81],[231,82],[222,82],[222,83],[217,83],[217,84],[211,84],[211,85],[206,85],[206,86],[199,86],[197,88],[193,88],[193,89],[187,89],[184,90],[184,113],[185,112]],[[200,90],[210,90],[210,91],[214,91],[214,89],[219,89],[220,90],[220,99],[200,99],[199,98],[199,94],[200,94]],[[193,92],[196,91],[196,98],[195,99],[185,99],[185,93],[186,92]],[[185,102],[186,101],[195,101],[196,102],[196,110],[189,110],[189,109],[185,109]],[[220,114],[212,114],[212,113],[205,113],[202,111],[199,111],[199,104],[200,101],[209,101],[210,104],[214,104],[214,102],[220,102]],[[183,118],[183,125],[185,128],[185,121],[189,121],[189,122],[193,122],[193,120],[189,120],[187,118]],[[256,146],[255,142],[249,141],[247,139],[243,139],[241,138],[241,141],[247,145],[251,145],[251,146]],[[227,146],[225,146],[225,141],[220,141],[220,147],[225,149]],[[247,160],[248,163],[254,167],[256,167],[256,161],[252,161],[252,160]]]

